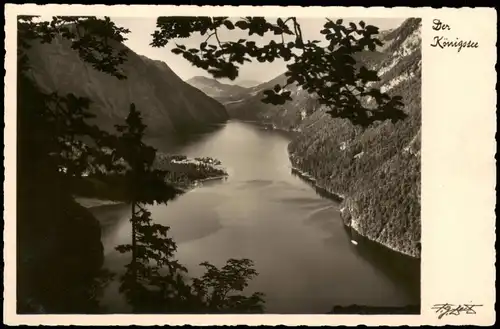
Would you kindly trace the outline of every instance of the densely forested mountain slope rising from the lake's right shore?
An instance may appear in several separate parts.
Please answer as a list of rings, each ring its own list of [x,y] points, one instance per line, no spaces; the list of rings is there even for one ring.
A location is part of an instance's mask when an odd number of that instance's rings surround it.
[[[332,119],[314,96],[295,85],[293,101],[260,102],[262,91],[283,83],[281,75],[226,103],[232,117],[261,120],[300,133],[289,145],[294,167],[316,185],[342,196],[346,226],[400,253],[420,257],[421,20],[410,18],[383,31],[384,45],[357,58],[376,70],[381,87],[403,97],[408,118],[362,130]]]

